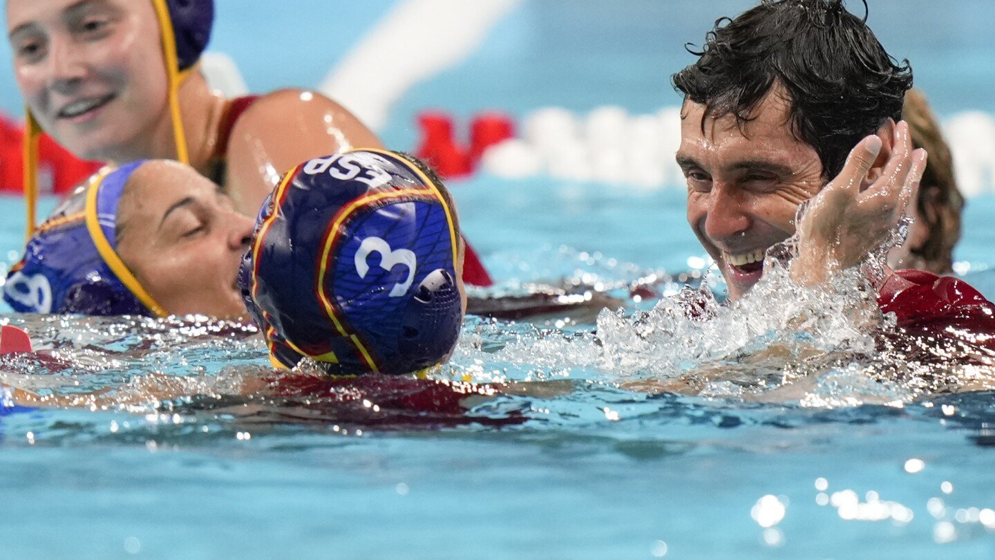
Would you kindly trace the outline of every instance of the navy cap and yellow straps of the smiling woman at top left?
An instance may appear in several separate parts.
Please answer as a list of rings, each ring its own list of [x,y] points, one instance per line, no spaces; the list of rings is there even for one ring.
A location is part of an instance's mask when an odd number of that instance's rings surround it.
[[[176,159],[190,163],[180,114],[179,87],[185,73],[196,64],[211,38],[214,0],[151,0],[162,35],[162,55],[169,87],[169,113],[173,124]],[[27,204],[27,239],[38,223],[38,138],[42,128],[30,109],[24,135],[24,196]]]

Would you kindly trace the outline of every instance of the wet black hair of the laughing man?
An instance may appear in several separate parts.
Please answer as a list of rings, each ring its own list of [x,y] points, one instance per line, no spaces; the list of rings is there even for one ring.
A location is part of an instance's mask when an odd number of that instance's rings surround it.
[[[815,148],[824,176],[835,176],[858,141],[901,118],[912,85],[908,61],[889,56],[866,19],[843,0],[762,0],[718,19],[700,49],[689,46],[698,60],[673,76],[674,88],[705,106],[703,129],[707,117],[750,121],[780,86],[792,134]]]

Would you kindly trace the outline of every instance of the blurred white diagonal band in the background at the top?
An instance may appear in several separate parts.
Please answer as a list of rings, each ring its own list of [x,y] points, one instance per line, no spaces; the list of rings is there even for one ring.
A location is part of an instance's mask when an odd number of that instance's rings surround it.
[[[391,106],[419,82],[459,64],[521,0],[404,0],[318,90],[376,131]]]

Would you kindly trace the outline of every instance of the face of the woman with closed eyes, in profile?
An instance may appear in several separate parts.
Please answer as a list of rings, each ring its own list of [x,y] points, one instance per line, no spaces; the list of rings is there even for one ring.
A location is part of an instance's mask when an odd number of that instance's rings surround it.
[[[253,221],[186,165],[149,161],[128,179],[117,253],[171,315],[245,315],[237,278]]]

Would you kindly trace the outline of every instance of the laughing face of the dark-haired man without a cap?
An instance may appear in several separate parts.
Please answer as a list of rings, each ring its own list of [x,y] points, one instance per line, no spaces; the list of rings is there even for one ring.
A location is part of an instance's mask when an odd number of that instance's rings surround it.
[[[704,110],[685,103],[677,159],[688,178],[688,221],[736,299],[760,279],[764,251],[794,233],[798,206],[826,180],[815,149],[791,134],[779,88],[746,123],[709,117],[702,130]]]

